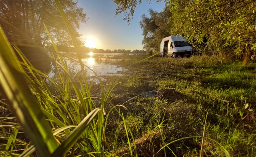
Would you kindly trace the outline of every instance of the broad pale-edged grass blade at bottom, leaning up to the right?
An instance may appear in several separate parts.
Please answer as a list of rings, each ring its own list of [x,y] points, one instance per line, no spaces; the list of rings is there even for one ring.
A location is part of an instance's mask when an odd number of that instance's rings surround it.
[[[56,149],[56,151],[51,155],[51,157],[62,157],[64,156],[69,149],[75,144],[77,139],[80,137],[82,132],[87,126],[93,121],[96,115],[101,111],[101,109],[96,108],[91,111],[82,122],[71,132],[67,139],[61,143],[61,145]]]

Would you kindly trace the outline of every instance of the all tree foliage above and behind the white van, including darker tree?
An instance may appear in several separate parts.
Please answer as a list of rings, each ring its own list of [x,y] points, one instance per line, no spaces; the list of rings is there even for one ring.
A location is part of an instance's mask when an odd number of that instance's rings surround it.
[[[116,4],[122,10],[117,13],[130,9],[128,16],[133,15],[136,0],[129,1],[132,5],[127,5],[125,0],[118,2]],[[151,17],[142,15],[142,43],[147,50],[157,52],[160,40],[167,34],[182,35],[193,44],[194,54],[229,54],[233,58],[243,58],[243,65],[248,60],[255,60],[254,0],[170,0],[165,3],[163,12],[149,10]]]

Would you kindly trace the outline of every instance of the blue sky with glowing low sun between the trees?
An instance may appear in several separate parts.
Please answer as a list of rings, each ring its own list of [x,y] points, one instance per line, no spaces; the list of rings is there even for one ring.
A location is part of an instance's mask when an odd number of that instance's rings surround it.
[[[152,0],[150,4],[144,0],[137,5],[130,25],[123,20],[125,14],[115,16],[117,5],[112,0],[78,0],[78,5],[84,9],[88,18],[79,29],[79,33],[87,43],[85,46],[133,51],[143,48],[142,29],[139,25],[141,15],[146,14],[150,17],[148,14],[150,8],[157,12],[163,11],[165,3],[164,1],[156,3],[156,0]]]

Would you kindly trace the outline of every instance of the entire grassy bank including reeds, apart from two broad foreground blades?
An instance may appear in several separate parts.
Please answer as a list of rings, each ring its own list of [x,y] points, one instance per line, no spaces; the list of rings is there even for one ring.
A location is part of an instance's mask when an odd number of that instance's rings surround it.
[[[35,69],[26,76],[57,146],[90,111],[102,111],[63,150],[67,156],[256,155],[255,63],[123,55],[115,63],[128,69],[124,76],[95,85],[58,57],[55,80]],[[10,108],[1,101],[1,154],[37,156]]]

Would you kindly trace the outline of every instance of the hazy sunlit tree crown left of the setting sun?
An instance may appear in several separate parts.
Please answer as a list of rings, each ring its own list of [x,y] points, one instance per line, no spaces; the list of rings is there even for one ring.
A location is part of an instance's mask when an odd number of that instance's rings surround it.
[[[61,0],[60,5],[66,13],[71,34],[80,41],[77,29],[80,22],[86,22],[86,14],[77,5],[77,1]],[[49,38],[43,23],[57,45],[72,44],[70,34],[53,0],[0,1],[0,24],[11,42],[47,45]]]

